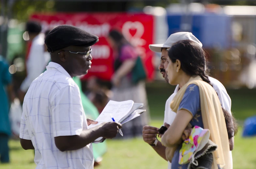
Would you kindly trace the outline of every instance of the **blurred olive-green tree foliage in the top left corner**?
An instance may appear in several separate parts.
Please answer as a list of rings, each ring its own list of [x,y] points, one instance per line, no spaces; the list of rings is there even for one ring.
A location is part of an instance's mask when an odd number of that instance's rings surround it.
[[[12,18],[27,21],[29,16],[35,12],[54,11],[55,1],[48,0],[16,0],[12,6]]]

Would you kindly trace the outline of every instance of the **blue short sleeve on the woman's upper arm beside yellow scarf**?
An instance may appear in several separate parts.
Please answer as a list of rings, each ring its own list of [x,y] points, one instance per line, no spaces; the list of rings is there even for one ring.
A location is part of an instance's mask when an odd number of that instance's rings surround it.
[[[200,93],[197,85],[191,84],[180,102],[179,109],[188,110],[193,116],[200,110]]]

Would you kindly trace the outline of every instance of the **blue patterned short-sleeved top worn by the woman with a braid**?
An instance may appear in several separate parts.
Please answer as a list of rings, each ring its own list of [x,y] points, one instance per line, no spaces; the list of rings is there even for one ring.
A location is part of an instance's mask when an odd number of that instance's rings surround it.
[[[180,102],[178,110],[185,109],[188,110],[192,115],[193,118],[189,122],[192,126],[200,126],[203,128],[203,119],[201,113],[201,106],[200,106],[200,94],[199,94],[199,87],[197,85],[191,84],[186,89],[186,92]],[[182,147],[180,144],[177,150],[174,153],[173,160],[172,160],[172,168],[175,169],[187,169],[188,164],[179,164],[179,152]]]

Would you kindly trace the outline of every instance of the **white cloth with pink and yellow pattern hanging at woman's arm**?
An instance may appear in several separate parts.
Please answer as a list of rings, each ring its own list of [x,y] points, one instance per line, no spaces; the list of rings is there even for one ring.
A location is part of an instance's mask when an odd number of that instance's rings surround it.
[[[210,131],[208,129],[195,126],[192,129],[189,138],[182,143],[182,148],[179,153],[179,164],[187,164],[191,161],[194,163],[195,154],[203,149],[207,144],[209,137]]]

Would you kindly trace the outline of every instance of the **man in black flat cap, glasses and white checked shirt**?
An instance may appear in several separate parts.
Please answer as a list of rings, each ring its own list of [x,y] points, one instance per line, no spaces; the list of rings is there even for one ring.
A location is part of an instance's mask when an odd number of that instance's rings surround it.
[[[113,138],[120,123],[97,124],[85,117],[79,87],[72,77],[91,67],[96,35],[62,25],[46,36],[51,54],[47,70],[33,81],[24,98],[20,129],[23,149],[35,149],[37,169],[92,169],[92,142]]]

